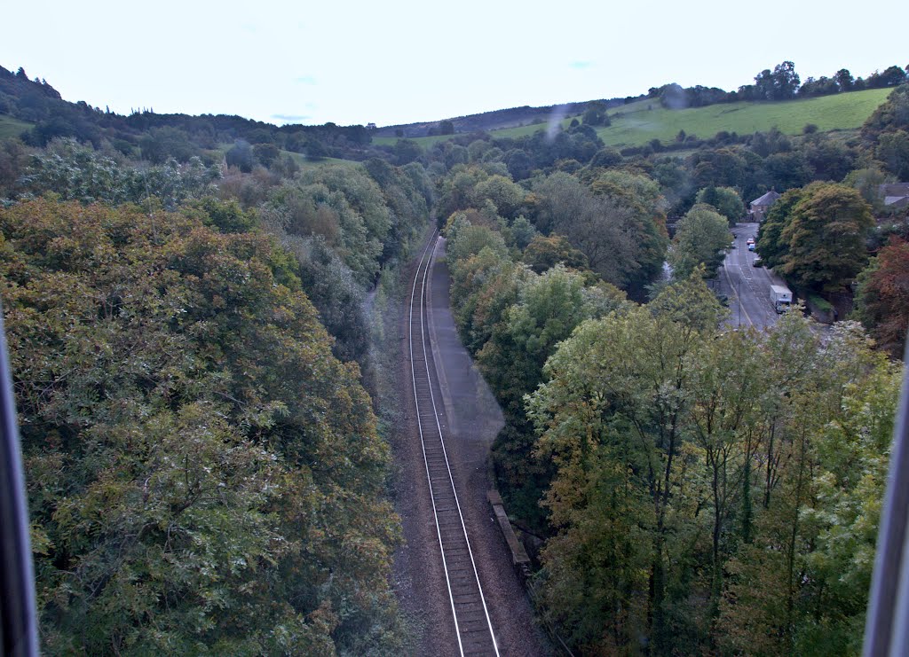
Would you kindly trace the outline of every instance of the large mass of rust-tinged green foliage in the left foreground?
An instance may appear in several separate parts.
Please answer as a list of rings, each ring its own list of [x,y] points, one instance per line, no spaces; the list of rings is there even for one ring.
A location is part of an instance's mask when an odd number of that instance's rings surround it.
[[[0,210],[48,653],[396,652],[388,452],[272,240]]]

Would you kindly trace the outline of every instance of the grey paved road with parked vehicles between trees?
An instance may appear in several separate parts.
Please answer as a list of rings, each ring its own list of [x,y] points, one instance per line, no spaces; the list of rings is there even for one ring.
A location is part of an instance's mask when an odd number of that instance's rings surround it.
[[[776,323],[778,315],[770,296],[770,286],[784,282],[764,267],[754,267],[754,251],[746,240],[757,237],[756,223],[739,223],[733,229],[735,248],[726,254],[719,268],[720,292],[729,298],[729,323],[765,329]]]

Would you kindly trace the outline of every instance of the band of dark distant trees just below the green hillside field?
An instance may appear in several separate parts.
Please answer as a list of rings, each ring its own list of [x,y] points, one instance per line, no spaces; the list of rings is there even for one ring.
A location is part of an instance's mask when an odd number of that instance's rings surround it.
[[[894,89],[886,106],[902,107],[904,89]],[[881,132],[874,125],[886,123]],[[694,204],[697,192],[708,187],[734,188],[744,201],[766,191],[785,191],[811,181],[847,181],[863,192],[876,211],[884,211],[876,185],[906,177],[904,162],[909,150],[904,144],[901,111],[884,113],[868,121],[864,131],[844,139],[806,126],[800,136],[772,129],[738,135],[719,132],[710,139],[680,133],[675,142],[689,154],[667,152],[672,146],[656,142],[618,150],[604,146],[594,129],[578,123],[547,135],[543,130],[519,138],[494,138],[486,133],[455,135],[425,151],[417,142],[400,140],[391,154],[395,163],[424,162],[436,176],[444,176],[459,164],[482,166],[489,172],[507,172],[513,181],[529,181],[555,171],[595,175],[595,170],[623,168],[650,176],[660,184],[670,217],[681,217]],[[690,152],[696,148],[694,152]],[[502,170],[504,165],[504,170]]]

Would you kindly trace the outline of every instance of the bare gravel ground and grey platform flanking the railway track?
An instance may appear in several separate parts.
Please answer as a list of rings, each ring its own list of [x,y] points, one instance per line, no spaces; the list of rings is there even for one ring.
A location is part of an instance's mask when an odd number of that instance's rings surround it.
[[[414,271],[415,265],[407,271],[411,281]],[[449,308],[445,240],[438,242],[435,265],[430,274],[430,334],[445,405],[446,449],[499,652],[502,655],[547,655],[551,653],[549,643],[534,621],[531,604],[514,573],[501,532],[486,502],[486,492],[492,486],[489,448],[503,426],[502,412],[454,328]],[[410,283],[406,287],[410,289]],[[405,545],[395,555],[396,590],[417,633],[415,652],[456,655],[454,623],[410,387],[405,309],[401,317],[402,358],[399,359],[398,390],[405,412],[395,431],[393,449],[396,509],[402,516]]]

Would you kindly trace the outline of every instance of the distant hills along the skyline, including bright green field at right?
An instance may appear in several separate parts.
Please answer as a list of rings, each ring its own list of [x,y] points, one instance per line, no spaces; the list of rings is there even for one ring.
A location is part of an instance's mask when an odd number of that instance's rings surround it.
[[[591,103],[600,103],[610,124],[598,124],[594,130],[607,146],[626,154],[647,148],[683,151],[697,148],[718,134],[725,134],[725,141],[731,135],[734,142],[736,135],[766,132],[774,127],[790,135],[803,132],[808,124],[816,126],[818,132],[856,130],[884,102],[893,85],[906,77],[895,66],[884,73],[887,75],[870,75],[861,85],[864,91],[835,93],[834,85],[833,92],[813,95],[819,93],[812,91],[815,83],[806,82],[799,94],[811,97],[798,95],[786,101],[744,100],[758,93],[754,85],[727,93],[716,88],[683,89],[677,84],[664,84],[650,88],[646,94],[626,98],[541,107],[524,105],[443,121],[375,128],[335,123],[275,126],[240,116],[158,114],[151,110],[125,116],[82,101],[67,102],[44,80],[29,80],[23,69],[14,74],[0,66],[0,138],[21,135],[25,142],[44,146],[56,137],[75,137],[95,147],[106,142],[127,156],[151,162],[163,162],[166,157],[185,162],[195,155],[210,163],[221,162],[225,152],[235,145],[248,150],[250,144],[296,153],[306,162],[326,157],[364,161],[387,157],[401,137],[428,147],[473,132],[489,132],[499,138],[532,135],[550,121],[567,128],[581,120]],[[760,76],[755,81],[759,79]],[[842,89],[859,88],[860,81],[861,78]]]

